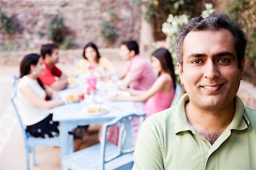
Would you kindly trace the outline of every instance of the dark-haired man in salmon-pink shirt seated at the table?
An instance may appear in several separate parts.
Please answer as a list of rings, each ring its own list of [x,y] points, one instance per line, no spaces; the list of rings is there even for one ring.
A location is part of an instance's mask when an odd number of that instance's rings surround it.
[[[122,87],[130,87],[135,90],[148,90],[156,80],[152,68],[143,57],[139,56],[139,45],[136,41],[123,41],[119,55],[127,62],[123,73],[119,75],[123,79]]]

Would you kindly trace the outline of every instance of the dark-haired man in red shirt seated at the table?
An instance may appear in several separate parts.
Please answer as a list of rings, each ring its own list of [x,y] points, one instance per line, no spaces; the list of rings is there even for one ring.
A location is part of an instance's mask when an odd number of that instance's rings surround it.
[[[59,62],[59,47],[55,44],[43,45],[41,55],[45,68],[39,79],[55,90],[66,88],[68,86],[67,75],[55,66]]]

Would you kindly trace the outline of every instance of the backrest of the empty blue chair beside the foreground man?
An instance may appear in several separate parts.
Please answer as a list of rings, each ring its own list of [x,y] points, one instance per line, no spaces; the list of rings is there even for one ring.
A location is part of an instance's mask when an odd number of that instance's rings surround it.
[[[122,155],[134,152],[135,146],[132,145],[131,139],[131,125],[134,118],[139,118],[138,132],[141,128],[142,122],[145,119],[144,114],[130,114],[124,117],[117,117],[113,121],[107,122],[102,127],[101,135],[101,169],[105,169],[105,163],[112,161]],[[106,136],[107,130],[110,126],[119,126],[119,137],[117,151],[112,155],[106,156]],[[137,132],[137,133],[138,133]]]

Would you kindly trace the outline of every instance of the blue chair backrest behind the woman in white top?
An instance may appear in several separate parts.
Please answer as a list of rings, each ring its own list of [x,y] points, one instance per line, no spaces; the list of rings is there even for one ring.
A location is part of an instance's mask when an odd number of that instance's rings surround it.
[[[19,82],[19,77],[14,75],[13,76],[13,95],[11,96],[11,104],[13,105],[14,112],[15,112],[16,116],[18,117],[19,125],[20,125],[20,128],[22,129],[23,137],[26,140],[28,137],[27,133],[26,133],[26,126],[23,124],[22,119],[19,116],[19,111],[18,111],[16,102],[15,102],[18,82]]]

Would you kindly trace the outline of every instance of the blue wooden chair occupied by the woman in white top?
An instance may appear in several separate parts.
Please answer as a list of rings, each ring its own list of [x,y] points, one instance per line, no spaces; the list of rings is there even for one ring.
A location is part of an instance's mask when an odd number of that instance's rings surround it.
[[[55,138],[36,138],[27,133],[26,125],[23,124],[22,119],[19,116],[18,108],[16,107],[16,85],[18,84],[19,78],[14,76],[13,80],[13,96],[11,97],[11,104],[13,105],[14,111],[16,116],[19,120],[20,128],[22,129],[24,145],[25,145],[25,152],[26,152],[26,162],[27,162],[27,170],[30,169],[30,160],[29,154],[32,153],[33,156],[33,164],[36,165],[35,160],[35,146],[60,146],[59,137]],[[73,136],[69,135],[70,140],[73,140]]]

